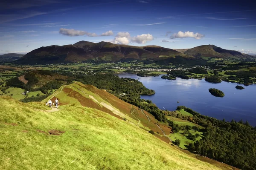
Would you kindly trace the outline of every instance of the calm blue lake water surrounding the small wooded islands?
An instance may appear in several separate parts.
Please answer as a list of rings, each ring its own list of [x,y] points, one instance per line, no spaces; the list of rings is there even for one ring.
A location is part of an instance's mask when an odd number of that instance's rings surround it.
[[[140,78],[148,89],[153,89],[154,95],[141,95],[149,99],[160,109],[175,110],[177,106],[186,106],[202,115],[208,115],[226,121],[235,119],[248,121],[256,126],[256,85],[244,86],[238,90],[235,83],[221,82],[212,84],[203,80],[165,80],[159,77],[139,77],[135,74],[122,73],[120,78]],[[243,85],[241,85],[243,86]],[[223,98],[215,97],[208,91],[216,88],[224,92]],[[180,103],[178,104],[177,101]]]

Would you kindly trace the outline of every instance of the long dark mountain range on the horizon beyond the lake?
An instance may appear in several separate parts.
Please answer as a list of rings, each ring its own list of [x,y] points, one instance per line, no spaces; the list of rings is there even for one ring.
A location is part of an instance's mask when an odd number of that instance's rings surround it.
[[[192,49],[168,49],[161,46],[128,46],[109,42],[92,43],[79,41],[73,45],[46,46],[35,49],[15,61],[17,64],[73,63],[81,61],[154,61],[186,62],[198,59],[234,58],[246,59],[253,56],[238,51],[226,50],[214,45],[197,46]]]

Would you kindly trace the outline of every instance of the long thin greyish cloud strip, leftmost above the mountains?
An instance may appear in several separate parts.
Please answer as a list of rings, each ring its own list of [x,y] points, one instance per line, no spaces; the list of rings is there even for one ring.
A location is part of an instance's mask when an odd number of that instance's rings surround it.
[[[104,32],[101,35],[97,35],[96,33],[90,33],[90,32],[76,30],[76,29],[64,29],[64,28],[61,28],[59,33],[62,35],[70,36],[70,37],[81,36],[81,35],[87,35],[88,37],[99,37],[99,36],[113,35],[112,30]]]

